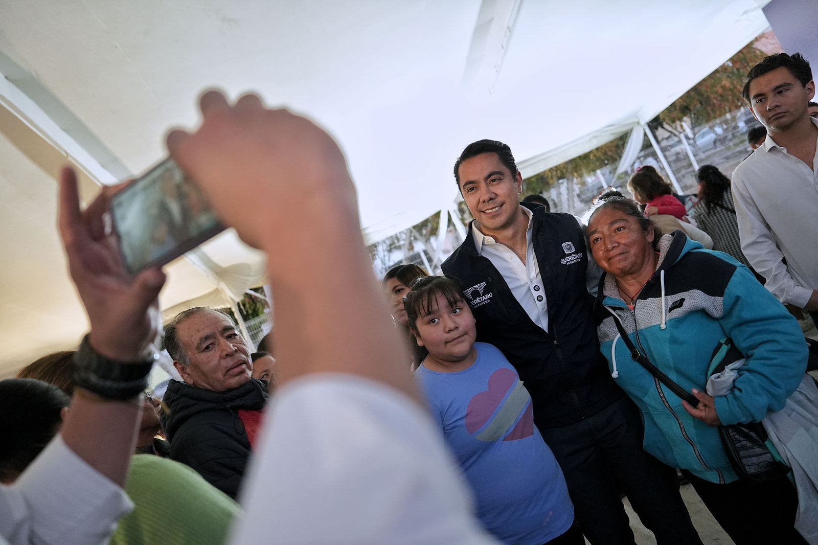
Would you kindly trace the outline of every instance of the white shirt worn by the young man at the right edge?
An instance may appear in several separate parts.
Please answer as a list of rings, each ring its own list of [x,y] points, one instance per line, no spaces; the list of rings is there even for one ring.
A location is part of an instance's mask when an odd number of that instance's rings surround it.
[[[732,189],[741,250],[769,291],[803,308],[818,289],[818,149],[810,168],[768,134],[736,167]]]

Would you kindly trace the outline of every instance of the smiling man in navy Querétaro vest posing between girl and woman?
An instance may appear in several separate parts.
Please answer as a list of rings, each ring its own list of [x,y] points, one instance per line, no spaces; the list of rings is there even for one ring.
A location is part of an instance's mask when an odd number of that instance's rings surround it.
[[[583,533],[634,543],[621,486],[657,543],[701,543],[676,471],[643,450],[639,412],[601,357],[577,218],[520,206],[523,178],[502,142],[467,146],[455,178],[474,221],[443,272],[461,282],[477,340],[501,349],[531,394]]]

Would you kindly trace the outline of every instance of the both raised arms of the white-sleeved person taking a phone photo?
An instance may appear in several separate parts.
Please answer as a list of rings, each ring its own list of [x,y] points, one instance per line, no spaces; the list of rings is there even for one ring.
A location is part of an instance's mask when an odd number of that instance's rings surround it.
[[[276,294],[278,389],[242,498],[247,513],[233,543],[497,543],[474,519],[465,481],[408,371],[411,357],[392,321],[384,319],[389,309],[366,254],[353,182],[338,146],[307,119],[268,110],[254,95],[230,105],[221,93],[207,92],[201,110],[199,131],[169,135],[171,155],[222,221],[276,256],[268,278]],[[129,331],[136,330],[146,340],[152,322],[144,302],[147,295],[155,301],[164,277],[159,271],[143,272],[136,281],[120,276],[115,245],[101,221],[107,203],[81,216],[73,171],[62,178],[61,210],[76,219],[63,240],[92,318],[92,347],[110,358],[134,358],[109,352],[102,342],[109,337],[99,334],[114,331],[133,346]],[[306,229],[299,225],[305,213],[317,218]],[[107,284],[83,291],[92,286],[83,274],[96,274]],[[106,295],[114,301],[109,304]],[[110,312],[119,307],[111,324],[97,321],[104,313],[92,311],[99,306]],[[120,317],[129,328],[115,331],[124,325]],[[122,503],[127,498],[99,513],[89,511],[113,493],[121,495],[115,484],[127,472],[141,407],[133,404],[129,420],[112,420],[115,407],[94,412],[96,422],[84,421],[96,428],[84,435],[76,430],[83,418],[70,416],[61,434],[65,443],[83,453],[79,463],[112,482],[89,482],[88,471],[71,471],[74,466],[66,466],[67,473],[61,464],[72,453],[62,449],[47,457],[60,448],[52,444],[20,477],[25,501],[0,489],[0,543],[3,538],[14,545],[106,543],[116,518],[127,511]],[[88,412],[82,403],[79,409]],[[122,440],[120,428],[128,430],[130,441]],[[117,440],[104,440],[106,434]],[[83,448],[69,444],[70,438],[92,442]],[[48,478],[29,485],[43,466]],[[60,493],[49,501],[52,489]],[[65,501],[74,489],[83,492],[79,498],[98,494],[99,501],[78,511],[75,502]],[[56,523],[49,521],[52,516]]]

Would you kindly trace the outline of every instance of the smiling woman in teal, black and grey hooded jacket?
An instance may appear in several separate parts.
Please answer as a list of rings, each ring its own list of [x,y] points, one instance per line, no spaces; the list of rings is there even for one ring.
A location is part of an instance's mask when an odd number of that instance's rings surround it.
[[[735,543],[806,543],[793,529],[798,498],[786,476],[739,479],[717,430],[784,408],[807,368],[798,322],[729,255],[679,231],[659,235],[628,199],[605,201],[588,222],[588,247],[605,271],[596,301],[600,349],[642,412],[645,450],[682,470]],[[699,399],[697,408],[631,359],[612,314],[656,367]],[[746,362],[730,393],[712,398],[704,393],[708,368],[727,338]]]

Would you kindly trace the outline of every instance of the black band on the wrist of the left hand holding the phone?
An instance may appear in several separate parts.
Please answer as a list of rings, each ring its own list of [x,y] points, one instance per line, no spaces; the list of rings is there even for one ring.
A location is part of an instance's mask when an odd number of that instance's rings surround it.
[[[74,353],[74,385],[106,399],[132,399],[148,385],[148,376],[159,354],[150,361],[125,363],[98,354],[83,338]]]

